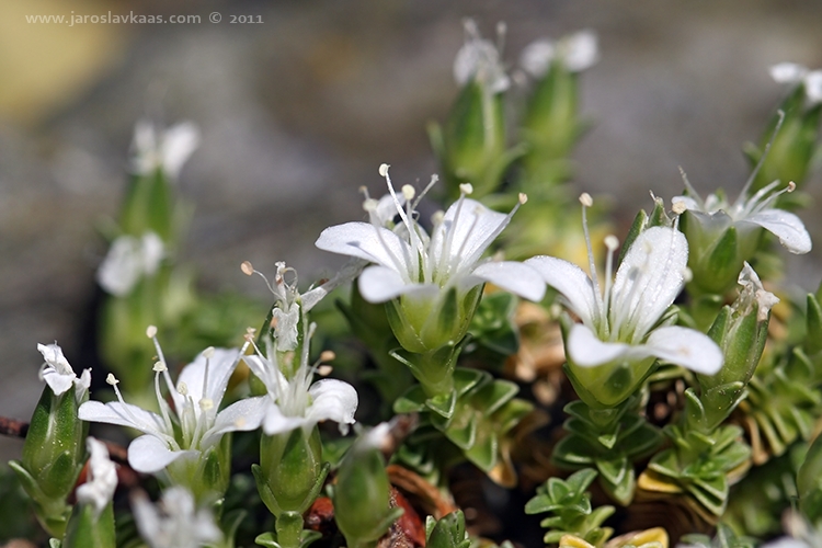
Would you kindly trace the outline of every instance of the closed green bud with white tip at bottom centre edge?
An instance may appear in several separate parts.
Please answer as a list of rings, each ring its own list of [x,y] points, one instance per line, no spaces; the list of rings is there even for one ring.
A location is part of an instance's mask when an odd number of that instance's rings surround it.
[[[376,543],[402,514],[390,507],[390,483],[380,453],[390,425],[381,423],[349,449],[336,476],[334,516],[349,548]]]

